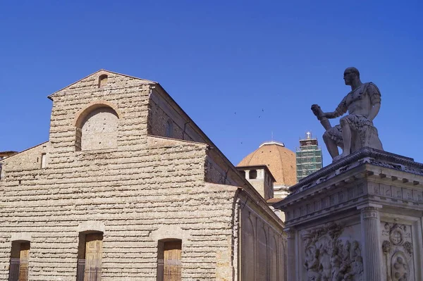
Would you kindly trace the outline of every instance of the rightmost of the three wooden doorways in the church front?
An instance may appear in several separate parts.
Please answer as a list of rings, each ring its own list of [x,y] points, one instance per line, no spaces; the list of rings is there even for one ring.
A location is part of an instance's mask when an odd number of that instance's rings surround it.
[[[182,241],[159,242],[157,281],[180,281]]]

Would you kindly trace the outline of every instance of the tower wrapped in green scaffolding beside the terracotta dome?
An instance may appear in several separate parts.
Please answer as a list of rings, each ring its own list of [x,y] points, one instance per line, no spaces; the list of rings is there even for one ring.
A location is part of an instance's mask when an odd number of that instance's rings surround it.
[[[311,132],[306,132],[305,138],[300,139],[300,147],[297,147],[295,151],[295,158],[298,181],[323,167],[321,146]]]

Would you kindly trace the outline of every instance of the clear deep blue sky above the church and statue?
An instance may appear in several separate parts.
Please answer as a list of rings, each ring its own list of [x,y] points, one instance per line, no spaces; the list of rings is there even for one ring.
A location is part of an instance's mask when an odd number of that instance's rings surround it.
[[[422,2],[1,1],[0,151],[47,141],[47,95],[100,68],[160,82],[235,165],[272,132],[295,151],[355,66],[384,149],[423,162]]]

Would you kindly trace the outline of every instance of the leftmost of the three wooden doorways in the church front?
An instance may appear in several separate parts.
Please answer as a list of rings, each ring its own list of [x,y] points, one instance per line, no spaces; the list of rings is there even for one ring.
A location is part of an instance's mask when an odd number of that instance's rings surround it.
[[[11,249],[11,264],[9,267],[9,281],[28,280],[28,258],[30,256],[30,242],[13,241]]]

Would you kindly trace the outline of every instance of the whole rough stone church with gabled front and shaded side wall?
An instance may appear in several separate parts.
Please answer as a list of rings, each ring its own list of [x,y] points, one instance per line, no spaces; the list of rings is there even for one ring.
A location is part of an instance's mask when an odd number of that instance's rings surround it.
[[[49,99],[49,141],[0,161],[0,280],[286,280],[282,221],[161,85]]]

